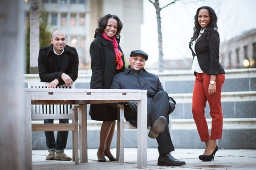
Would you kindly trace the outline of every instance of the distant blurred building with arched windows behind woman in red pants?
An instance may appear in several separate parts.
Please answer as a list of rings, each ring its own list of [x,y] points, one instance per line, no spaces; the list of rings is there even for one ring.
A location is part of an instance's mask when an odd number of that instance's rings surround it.
[[[256,29],[252,29],[231,40],[220,43],[219,62],[224,69],[240,69],[256,67]],[[166,70],[190,70],[191,58],[186,59],[166,59],[164,68]],[[158,64],[149,66],[157,69]]]

